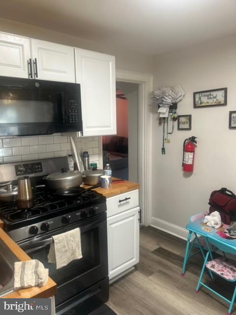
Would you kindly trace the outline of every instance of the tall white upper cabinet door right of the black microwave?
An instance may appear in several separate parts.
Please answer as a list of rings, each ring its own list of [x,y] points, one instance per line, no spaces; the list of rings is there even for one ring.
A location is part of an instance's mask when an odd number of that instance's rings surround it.
[[[115,57],[76,48],[81,84],[83,135],[117,133]]]

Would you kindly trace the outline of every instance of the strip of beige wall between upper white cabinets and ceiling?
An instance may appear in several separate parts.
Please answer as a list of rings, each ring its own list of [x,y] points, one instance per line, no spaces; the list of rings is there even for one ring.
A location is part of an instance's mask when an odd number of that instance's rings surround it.
[[[152,73],[154,64],[152,56],[125,50],[120,45],[104,44],[80,38],[79,33],[76,37],[6,19],[0,19],[0,31],[114,55],[116,56],[116,68],[118,69]]]

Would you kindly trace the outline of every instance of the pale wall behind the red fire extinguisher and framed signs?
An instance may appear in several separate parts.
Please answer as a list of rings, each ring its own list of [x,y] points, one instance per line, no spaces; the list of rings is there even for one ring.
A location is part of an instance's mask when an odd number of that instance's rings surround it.
[[[162,127],[153,111],[152,219],[153,225],[183,236],[191,214],[208,210],[210,192],[227,187],[236,192],[236,130],[229,130],[229,111],[236,110],[236,35],[227,36],[155,57],[154,90],[180,84],[186,95],[179,115],[192,115],[192,130],[177,123],[166,155],[161,155]],[[193,109],[193,92],[228,88],[228,105]],[[198,137],[194,172],[181,168],[185,138]],[[188,177],[189,176],[189,177]]]

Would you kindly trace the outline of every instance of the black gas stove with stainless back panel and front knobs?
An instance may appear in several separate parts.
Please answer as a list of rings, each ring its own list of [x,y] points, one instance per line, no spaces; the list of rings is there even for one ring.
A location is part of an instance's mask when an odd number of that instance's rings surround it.
[[[37,186],[32,208],[0,202],[0,219],[6,233],[31,259],[40,260],[57,283],[56,314],[77,314],[76,308],[86,315],[109,298],[106,198],[83,188],[69,198],[50,191],[43,178],[62,167],[68,168],[66,157],[0,165],[1,183],[14,184],[29,174]],[[80,229],[83,257],[57,269],[48,261],[53,237],[75,228]]]

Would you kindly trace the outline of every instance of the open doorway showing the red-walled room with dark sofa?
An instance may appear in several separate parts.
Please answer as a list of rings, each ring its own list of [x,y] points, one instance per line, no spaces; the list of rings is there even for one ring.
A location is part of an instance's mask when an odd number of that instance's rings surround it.
[[[114,177],[139,183],[139,84],[116,82],[117,134],[103,136],[103,167]]]

